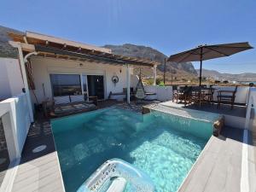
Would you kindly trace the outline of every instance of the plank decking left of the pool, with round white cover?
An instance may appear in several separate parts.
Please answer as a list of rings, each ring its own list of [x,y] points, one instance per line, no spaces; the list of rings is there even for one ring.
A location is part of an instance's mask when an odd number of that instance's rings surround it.
[[[12,191],[64,192],[60,164],[49,121],[43,116],[37,119],[26,137]],[[32,153],[32,149],[40,145],[47,147],[41,152]]]

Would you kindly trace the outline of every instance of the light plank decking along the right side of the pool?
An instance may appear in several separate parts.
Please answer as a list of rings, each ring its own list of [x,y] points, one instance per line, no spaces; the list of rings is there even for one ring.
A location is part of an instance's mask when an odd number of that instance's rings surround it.
[[[221,136],[211,137],[178,192],[240,192],[243,130],[225,127]],[[256,191],[255,146],[250,142],[247,157],[249,191]]]

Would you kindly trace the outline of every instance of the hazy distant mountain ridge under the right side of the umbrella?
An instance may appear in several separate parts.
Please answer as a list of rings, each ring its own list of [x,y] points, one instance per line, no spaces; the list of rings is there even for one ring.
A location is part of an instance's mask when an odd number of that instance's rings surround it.
[[[196,70],[200,73],[200,70]],[[240,74],[230,74],[230,73],[219,73],[214,70],[202,69],[202,77],[207,79],[215,80],[229,80],[229,81],[256,81],[256,73],[240,73]]]

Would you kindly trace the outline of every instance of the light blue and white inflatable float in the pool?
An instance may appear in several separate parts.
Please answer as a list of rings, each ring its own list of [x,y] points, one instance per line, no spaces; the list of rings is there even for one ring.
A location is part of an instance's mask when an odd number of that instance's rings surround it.
[[[106,192],[123,192],[126,182],[131,183],[134,191],[154,192],[154,183],[146,173],[130,163],[116,158],[103,163],[96,172],[86,179],[77,192],[99,192],[102,189]],[[110,184],[110,186],[108,187],[106,184]],[[142,187],[143,190],[141,190]]]

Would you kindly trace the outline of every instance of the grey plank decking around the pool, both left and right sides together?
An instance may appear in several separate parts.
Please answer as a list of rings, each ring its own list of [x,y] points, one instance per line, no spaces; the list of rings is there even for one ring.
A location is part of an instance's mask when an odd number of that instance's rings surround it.
[[[142,107],[124,103],[118,106],[135,111]],[[225,127],[221,136],[211,137],[179,191],[240,191],[242,134],[241,129]],[[32,149],[42,144],[47,148],[33,154]],[[253,151],[255,147],[249,145],[249,167],[256,167]],[[249,174],[250,191],[255,191],[255,168],[250,168]],[[42,116],[28,133],[12,191],[65,191],[49,120]]]

